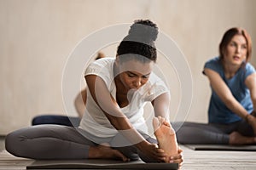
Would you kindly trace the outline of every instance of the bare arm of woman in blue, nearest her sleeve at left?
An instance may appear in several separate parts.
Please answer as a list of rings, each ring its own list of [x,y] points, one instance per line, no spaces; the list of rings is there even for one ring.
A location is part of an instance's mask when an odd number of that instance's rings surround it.
[[[245,119],[248,114],[247,111],[235,99],[230,91],[230,88],[224,83],[218,73],[207,68],[205,68],[204,72],[207,75],[214,92],[230,109],[230,111],[233,111],[234,113],[236,113],[236,115],[241,116],[241,118]]]

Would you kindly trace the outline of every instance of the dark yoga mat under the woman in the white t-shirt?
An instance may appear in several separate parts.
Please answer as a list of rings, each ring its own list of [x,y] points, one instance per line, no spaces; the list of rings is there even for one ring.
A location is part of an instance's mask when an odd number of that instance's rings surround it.
[[[113,160],[53,160],[33,161],[26,169],[177,169],[177,163],[144,163]]]

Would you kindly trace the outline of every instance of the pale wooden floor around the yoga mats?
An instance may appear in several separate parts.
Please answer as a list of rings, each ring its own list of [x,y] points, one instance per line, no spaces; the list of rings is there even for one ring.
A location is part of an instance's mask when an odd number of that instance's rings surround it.
[[[195,151],[180,145],[183,149],[182,169],[255,170],[255,151]],[[33,160],[10,155],[4,150],[3,137],[0,138],[0,169],[21,170]]]

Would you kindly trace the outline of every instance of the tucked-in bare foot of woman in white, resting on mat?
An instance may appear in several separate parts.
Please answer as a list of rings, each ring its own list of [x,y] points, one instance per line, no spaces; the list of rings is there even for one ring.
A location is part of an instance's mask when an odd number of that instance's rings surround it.
[[[123,161],[130,161],[119,150],[113,150],[108,144],[99,144],[97,146],[90,146],[90,159],[121,159]]]

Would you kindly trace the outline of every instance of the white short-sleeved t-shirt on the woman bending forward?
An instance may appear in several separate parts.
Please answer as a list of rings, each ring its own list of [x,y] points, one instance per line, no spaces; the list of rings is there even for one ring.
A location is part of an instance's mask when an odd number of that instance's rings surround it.
[[[96,75],[101,77],[102,80],[106,82],[109,93],[113,96],[113,99],[116,99],[113,63],[113,58],[97,59],[87,67],[84,76]],[[146,102],[150,102],[164,93],[169,93],[168,88],[166,88],[165,83],[152,72],[148,82],[132,94],[129,105],[121,108],[121,111],[127,116],[133,127],[143,131],[143,133],[148,133],[148,127],[143,117],[143,107],[146,105]],[[105,116],[101,108],[96,105],[89,90],[87,93],[86,110],[79,127],[99,138],[113,137],[118,133],[108,121],[107,116]]]

